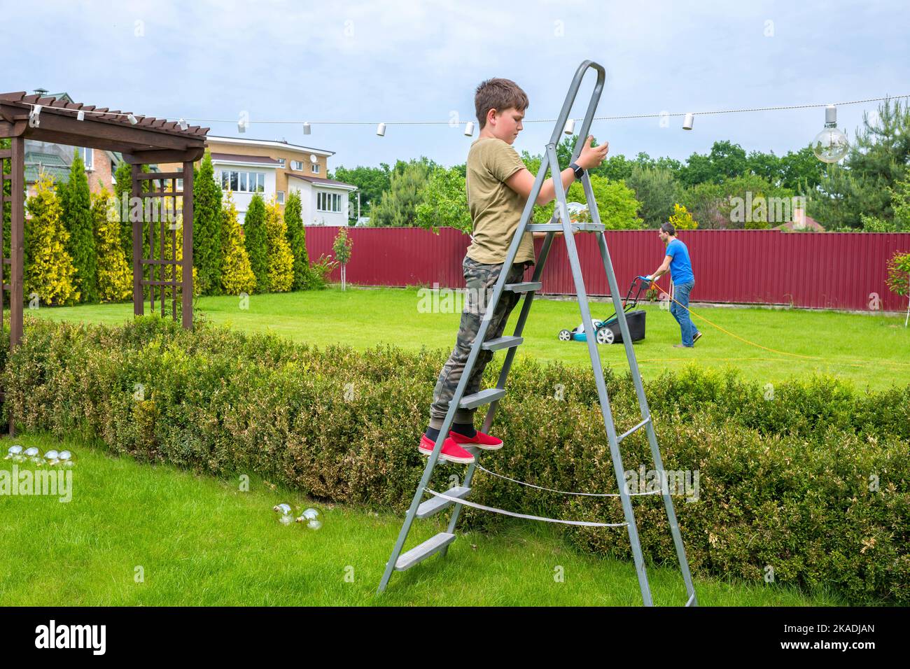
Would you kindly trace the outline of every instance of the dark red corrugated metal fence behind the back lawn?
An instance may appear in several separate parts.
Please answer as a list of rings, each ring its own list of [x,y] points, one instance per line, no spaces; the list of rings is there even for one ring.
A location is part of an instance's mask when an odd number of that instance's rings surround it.
[[[308,226],[310,260],[332,255],[339,228]],[[419,228],[348,228],[354,246],[350,283],[369,286],[463,288],[461,261],[470,237],[453,228],[435,235]],[[663,244],[656,230],[607,232],[607,248],[621,289],[660,265]],[[744,304],[793,304],[819,309],[906,309],[906,299],[887,289],[886,265],[895,251],[910,252],[910,233],[785,233],[777,230],[688,230],[679,238],[689,248],[695,274],[693,300]],[[596,238],[575,236],[585,286],[608,295]],[[542,239],[536,241],[540,252]],[[529,269],[527,277],[531,277]],[[335,269],[330,279],[340,281]],[[668,279],[662,286],[667,288]],[[543,271],[542,293],[574,294],[565,240],[553,242]]]

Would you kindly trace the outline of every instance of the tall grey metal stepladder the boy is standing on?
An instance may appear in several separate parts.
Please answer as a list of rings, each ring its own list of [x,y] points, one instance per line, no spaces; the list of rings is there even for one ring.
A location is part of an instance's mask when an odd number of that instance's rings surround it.
[[[503,290],[523,293],[525,297],[522,303],[518,322],[515,326],[515,332],[511,336],[504,336],[494,340],[485,340],[486,332],[488,326],[490,325],[490,320],[481,319],[480,330],[478,331],[477,339],[471,346],[468,361],[465,364],[464,371],[461,373],[461,380],[459,381],[458,387],[456,388],[455,394],[450,402],[449,411],[446,413],[445,420],[442,423],[440,436],[437,438],[436,443],[433,447],[433,451],[427,461],[426,468],[423,471],[423,477],[420,479],[420,484],[417,487],[417,492],[414,494],[414,499],[410,504],[410,509],[408,510],[408,514],[405,517],[404,524],[401,526],[398,541],[395,542],[395,547],[392,549],[391,556],[389,557],[389,562],[386,564],[385,573],[383,573],[382,581],[379,583],[379,593],[382,593],[386,589],[386,586],[389,583],[389,578],[393,572],[400,572],[406,569],[410,569],[410,567],[413,567],[415,564],[420,563],[421,561],[429,558],[431,555],[434,555],[436,553],[445,555],[449,549],[451,542],[455,541],[455,525],[458,522],[459,513],[462,507],[462,504],[458,503],[457,500],[466,500],[466,498],[470,495],[470,481],[473,478],[474,471],[477,467],[477,461],[480,458],[480,450],[473,447],[467,447],[467,450],[470,451],[470,453],[474,456],[474,462],[471,462],[468,466],[468,471],[465,474],[463,484],[446,492],[446,496],[451,499],[446,500],[434,495],[426,502],[422,502],[424,492],[427,490],[427,485],[430,482],[430,476],[432,475],[433,469],[436,467],[436,463],[439,459],[440,451],[442,449],[442,442],[449,435],[449,430],[455,416],[455,411],[459,407],[462,409],[471,409],[474,407],[482,406],[484,404],[489,404],[490,406],[487,411],[486,418],[483,421],[483,427],[481,430],[484,432],[490,431],[490,426],[493,422],[493,416],[496,413],[496,407],[506,392],[506,379],[509,376],[511,363],[515,357],[515,350],[522,341],[521,332],[524,329],[525,321],[528,319],[528,313],[531,311],[534,292],[541,289],[541,276],[543,273],[543,266],[546,262],[547,255],[550,252],[554,233],[557,230],[561,230],[565,236],[566,248],[571,263],[572,278],[575,282],[575,289],[578,295],[579,307],[581,309],[581,318],[584,323],[584,331],[588,343],[588,351],[591,354],[591,367],[594,370],[594,380],[597,385],[598,395],[600,396],[603,423],[607,431],[608,441],[610,442],[610,453],[612,455],[613,470],[616,473],[616,483],[620,491],[619,497],[622,501],[622,512],[625,517],[625,522],[622,524],[626,525],[629,532],[629,542],[632,544],[632,555],[634,557],[635,571],[638,574],[638,582],[642,590],[642,602],[646,606],[652,605],[651,588],[648,583],[647,574],[645,573],[644,560],[642,558],[642,547],[639,542],[638,530],[635,525],[635,515],[632,511],[630,493],[626,489],[624,470],[622,467],[622,455],[620,453],[619,445],[622,440],[632,434],[632,432],[644,428],[647,431],[648,441],[651,444],[651,453],[654,461],[654,467],[657,471],[663,472],[664,470],[663,462],[661,460],[661,451],[657,445],[657,435],[654,431],[654,426],[651,420],[651,411],[648,409],[648,400],[646,400],[644,396],[642,376],[638,369],[638,362],[635,360],[635,351],[632,350],[632,337],[629,334],[629,326],[626,322],[625,311],[622,309],[621,293],[616,282],[616,277],[613,273],[612,261],[610,259],[610,253],[607,249],[606,237],[604,235],[604,226],[600,222],[600,214],[598,213],[597,203],[594,199],[593,190],[591,189],[591,179],[588,176],[587,172],[585,172],[584,176],[581,177],[581,183],[584,187],[584,194],[588,201],[589,211],[591,212],[591,222],[571,222],[566,203],[566,194],[564,188],[562,188],[562,182],[560,178],[561,170],[559,166],[559,160],[556,156],[556,145],[560,139],[562,130],[566,125],[566,121],[568,120],[569,114],[571,112],[571,106],[575,101],[575,96],[578,94],[579,86],[581,86],[581,79],[589,67],[593,68],[597,72],[597,83],[594,86],[593,93],[591,94],[591,101],[588,105],[588,110],[585,114],[584,122],[581,124],[581,130],[579,132],[579,137],[588,137],[588,130],[591,127],[591,120],[600,100],[603,83],[606,79],[606,72],[604,71],[603,67],[590,60],[586,60],[581,63],[581,66],[579,66],[574,78],[572,79],[569,93],[566,96],[565,102],[562,104],[560,116],[556,121],[556,127],[553,129],[553,134],[550,138],[550,142],[546,146],[546,154],[541,160],[541,167],[537,172],[537,178],[534,180],[534,186],[531,189],[531,195],[529,196],[528,202],[526,203],[525,208],[521,214],[521,222],[519,223],[519,227],[516,228],[515,235],[512,238],[508,255],[503,264],[503,271],[501,271],[500,278],[496,281],[496,285],[492,290],[490,303],[487,306],[486,313],[487,315],[490,315],[496,308]],[[575,150],[572,154],[572,161],[579,157],[582,146],[583,139],[579,142],[576,142]],[[541,186],[543,185],[547,168],[551,166],[553,167],[552,177],[556,191],[557,203],[556,208],[554,208],[553,211],[553,217],[549,223],[531,224],[530,221],[534,208],[534,202],[536,202],[537,196],[541,192]],[[543,246],[541,248],[540,257],[537,258],[537,262],[535,264],[533,278],[531,281],[507,284],[505,283],[507,274],[506,269],[510,268],[514,262],[514,258],[518,252],[519,244],[521,242],[521,237],[527,231],[547,232],[547,236],[544,238]],[[598,245],[601,251],[601,258],[603,260],[603,269],[607,274],[613,306],[616,309],[620,331],[622,332],[622,342],[625,346],[626,358],[629,360],[629,367],[632,370],[632,380],[634,380],[635,392],[638,396],[638,403],[642,412],[642,421],[633,426],[632,429],[622,432],[622,434],[619,435],[617,435],[616,426],[613,422],[610,400],[607,396],[606,384],[603,380],[601,358],[597,350],[597,341],[595,340],[595,332],[593,324],[591,323],[591,309],[588,306],[588,294],[584,287],[584,280],[581,277],[581,263],[578,257],[578,250],[575,247],[574,235],[575,233],[579,232],[591,232],[597,235]],[[470,378],[470,372],[473,370],[474,363],[477,360],[480,350],[507,350],[506,359],[502,364],[499,382],[497,383],[496,388],[480,390],[480,392],[464,397],[463,394],[465,386],[467,385],[468,379]],[[662,478],[665,481],[665,476]],[[670,496],[670,492],[668,491],[665,484],[662,485],[662,497],[663,504],[667,512],[667,518],[670,522],[673,543],[676,546],[676,556],[679,559],[680,567],[682,570],[682,579],[685,582],[686,592],[689,595],[688,601],[685,603],[685,605],[697,605],[698,601],[695,597],[692,576],[689,573],[689,563],[686,560],[685,548],[682,545],[682,536],[680,534],[679,525],[676,522],[676,513],[673,511],[673,502]],[[408,537],[408,533],[410,532],[411,524],[414,522],[415,518],[428,518],[431,515],[441,512],[449,507],[453,507],[453,509],[451,512],[449,528],[447,532],[440,532],[431,537],[429,540],[420,543],[414,548],[411,548],[409,551],[401,552]]]

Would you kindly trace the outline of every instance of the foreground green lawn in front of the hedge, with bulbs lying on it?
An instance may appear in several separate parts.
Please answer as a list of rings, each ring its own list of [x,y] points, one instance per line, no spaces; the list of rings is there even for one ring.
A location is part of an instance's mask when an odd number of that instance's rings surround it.
[[[399,532],[395,515],[308,502],[256,477],[240,492],[238,479],[149,466],[47,435],[5,438],[0,451],[13,443],[70,448],[76,467],[71,502],[0,495],[6,606],[641,604],[632,563],[575,552],[557,529],[531,522],[460,534],[448,556],[395,573],[377,595]],[[11,467],[0,460],[0,470]],[[280,502],[318,508],[322,528],[281,525],[272,511]],[[415,522],[407,547],[440,532],[440,522]],[[554,579],[558,566],[562,583]],[[654,603],[685,602],[678,569],[649,566],[648,574]],[[696,579],[695,587],[702,605],[844,605],[829,593],[774,584]]]

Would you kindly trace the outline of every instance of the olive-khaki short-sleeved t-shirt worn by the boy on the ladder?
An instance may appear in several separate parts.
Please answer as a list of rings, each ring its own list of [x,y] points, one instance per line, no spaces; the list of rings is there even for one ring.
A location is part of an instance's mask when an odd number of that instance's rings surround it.
[[[466,167],[465,185],[473,221],[467,255],[480,263],[498,265],[505,262],[527,202],[505,181],[525,166],[511,144],[496,137],[482,137],[471,143]],[[525,232],[515,262],[535,259],[534,237]]]

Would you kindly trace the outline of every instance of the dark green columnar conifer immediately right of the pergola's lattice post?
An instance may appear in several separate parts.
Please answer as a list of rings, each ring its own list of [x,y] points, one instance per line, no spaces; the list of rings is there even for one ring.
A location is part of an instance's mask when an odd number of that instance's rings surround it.
[[[193,177],[193,264],[203,294],[221,292],[221,188],[215,182],[212,156],[206,151]]]

